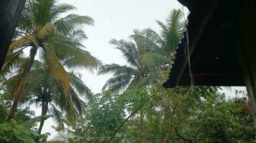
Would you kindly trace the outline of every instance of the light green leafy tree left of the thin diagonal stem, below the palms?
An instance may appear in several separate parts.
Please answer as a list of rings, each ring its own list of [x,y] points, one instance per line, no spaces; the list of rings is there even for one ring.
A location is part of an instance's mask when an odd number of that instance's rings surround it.
[[[124,119],[126,104],[127,99],[111,92],[93,96],[85,116],[71,126],[73,139],[69,139],[70,142],[107,142]],[[122,134],[114,142],[121,142]]]

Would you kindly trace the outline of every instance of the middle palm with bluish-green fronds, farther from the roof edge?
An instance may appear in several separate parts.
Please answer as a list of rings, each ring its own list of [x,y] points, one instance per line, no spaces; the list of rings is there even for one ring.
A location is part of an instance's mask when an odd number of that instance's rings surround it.
[[[149,74],[154,71],[152,66],[143,64],[138,58],[145,52],[145,47],[139,41],[125,41],[111,39],[110,44],[122,51],[129,66],[119,64],[105,64],[99,68],[98,74],[114,74],[103,87],[111,92],[122,92],[124,89],[150,84],[154,78]],[[139,46],[140,45],[140,46]]]

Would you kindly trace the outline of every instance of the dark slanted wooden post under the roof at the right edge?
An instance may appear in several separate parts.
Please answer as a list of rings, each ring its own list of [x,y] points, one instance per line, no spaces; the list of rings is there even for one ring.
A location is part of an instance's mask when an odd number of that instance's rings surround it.
[[[252,116],[256,127],[256,4],[243,1],[237,11],[236,42],[242,61],[244,83],[252,108]]]

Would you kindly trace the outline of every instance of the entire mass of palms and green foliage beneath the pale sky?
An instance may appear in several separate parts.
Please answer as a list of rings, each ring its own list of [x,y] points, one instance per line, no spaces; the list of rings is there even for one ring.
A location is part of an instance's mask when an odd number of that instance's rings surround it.
[[[246,94],[227,99],[220,87],[161,87],[185,30],[179,10],[157,21],[159,33],[134,29],[131,41],[111,39],[127,61],[119,65],[86,51],[83,28],[93,19],[73,9],[56,0],[25,4],[1,69],[0,142],[51,142],[41,133],[49,117],[64,140],[52,143],[256,142]],[[113,77],[93,94],[78,69]]]

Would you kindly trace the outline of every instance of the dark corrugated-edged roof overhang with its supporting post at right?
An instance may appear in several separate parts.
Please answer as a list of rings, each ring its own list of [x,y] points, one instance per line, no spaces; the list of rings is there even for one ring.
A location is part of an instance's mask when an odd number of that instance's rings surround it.
[[[246,86],[256,124],[256,1],[178,1],[191,13],[163,86]]]

